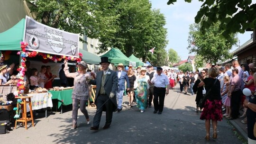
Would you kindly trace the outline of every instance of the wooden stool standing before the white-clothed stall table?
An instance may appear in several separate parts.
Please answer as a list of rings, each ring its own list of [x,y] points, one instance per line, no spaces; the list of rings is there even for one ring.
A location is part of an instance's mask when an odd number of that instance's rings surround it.
[[[21,99],[22,100],[22,103],[21,103],[22,117],[15,121],[15,129],[16,129],[16,126],[17,126],[17,122],[22,122],[23,126],[24,126],[24,123],[25,123],[25,128],[27,129],[27,122],[32,121],[32,126],[34,127],[34,118],[33,118],[33,112],[32,112],[31,97],[32,96],[20,96],[20,97],[15,98],[15,99]],[[28,101],[26,99],[28,99]],[[27,117],[27,103],[29,105],[29,108],[31,109],[30,110],[30,116],[31,117]],[[17,103],[17,108],[18,108],[18,103]]]

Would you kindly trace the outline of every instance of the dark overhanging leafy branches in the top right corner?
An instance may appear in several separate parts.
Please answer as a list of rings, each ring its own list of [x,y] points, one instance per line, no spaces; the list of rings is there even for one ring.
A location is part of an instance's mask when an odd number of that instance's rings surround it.
[[[168,0],[167,4],[174,4],[177,0]],[[191,2],[192,0],[185,0]],[[195,23],[201,23],[201,31],[220,22],[219,29],[225,37],[231,33],[244,33],[247,29],[256,28],[256,3],[253,0],[199,0],[204,1],[197,12]]]

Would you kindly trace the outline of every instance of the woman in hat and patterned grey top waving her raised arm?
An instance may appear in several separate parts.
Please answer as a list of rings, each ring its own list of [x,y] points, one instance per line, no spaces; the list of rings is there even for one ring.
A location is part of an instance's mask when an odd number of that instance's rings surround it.
[[[67,65],[67,61],[64,61],[64,72],[66,77],[74,78],[74,86],[72,92],[72,123],[73,126],[71,130],[77,127],[77,113],[78,113],[78,106],[80,106],[80,110],[86,118],[87,124],[90,124],[90,118],[88,112],[86,110],[86,102],[89,99],[89,84],[86,81],[86,78],[90,78],[90,74],[86,72],[88,68],[87,64],[83,61],[78,63],[78,72],[70,73],[68,71],[69,67]]]

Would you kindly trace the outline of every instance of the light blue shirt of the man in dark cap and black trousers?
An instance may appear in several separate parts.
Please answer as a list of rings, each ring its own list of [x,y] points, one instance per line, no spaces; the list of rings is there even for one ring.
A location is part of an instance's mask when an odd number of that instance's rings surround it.
[[[165,88],[166,85],[169,85],[170,83],[167,75],[165,75],[164,73],[161,73],[160,75],[156,73],[152,78],[151,82],[154,82],[155,87],[157,88]]]

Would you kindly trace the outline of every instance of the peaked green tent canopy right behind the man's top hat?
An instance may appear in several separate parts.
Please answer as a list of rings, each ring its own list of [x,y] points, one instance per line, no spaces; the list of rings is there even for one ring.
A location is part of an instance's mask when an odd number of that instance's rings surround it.
[[[110,63],[114,65],[118,65],[119,63],[123,63],[124,65],[129,65],[130,62],[135,62],[130,60],[125,54],[123,54],[117,48],[111,48],[106,54],[101,55],[100,57],[107,56],[109,57]]]

